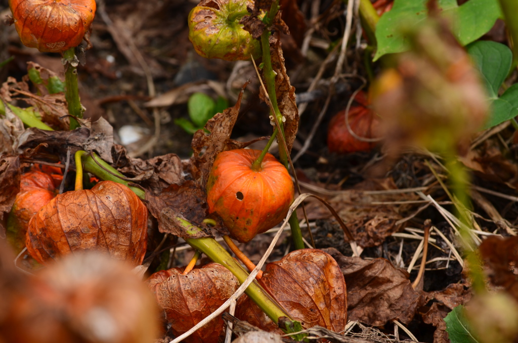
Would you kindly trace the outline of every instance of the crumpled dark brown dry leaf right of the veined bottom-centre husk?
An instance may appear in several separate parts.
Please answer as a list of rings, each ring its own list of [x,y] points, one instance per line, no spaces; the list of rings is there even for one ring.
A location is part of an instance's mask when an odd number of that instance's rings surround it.
[[[323,250],[335,258],[346,280],[349,320],[374,326],[393,319],[408,324],[424,305],[423,294],[412,288],[408,274],[388,260],[364,261],[334,248]]]

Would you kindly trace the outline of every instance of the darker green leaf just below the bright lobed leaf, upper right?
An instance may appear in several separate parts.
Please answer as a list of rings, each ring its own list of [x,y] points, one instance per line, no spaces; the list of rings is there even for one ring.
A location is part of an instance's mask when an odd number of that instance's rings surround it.
[[[467,50],[482,74],[490,97],[496,99],[498,90],[511,68],[511,49],[494,41],[481,40],[470,44]]]

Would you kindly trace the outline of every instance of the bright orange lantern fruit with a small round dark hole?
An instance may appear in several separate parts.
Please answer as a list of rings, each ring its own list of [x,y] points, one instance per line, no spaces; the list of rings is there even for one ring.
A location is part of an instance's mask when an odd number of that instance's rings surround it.
[[[216,212],[240,242],[277,225],[293,202],[291,176],[273,155],[267,153],[254,170],[260,154],[250,149],[219,153],[207,182],[209,212]]]

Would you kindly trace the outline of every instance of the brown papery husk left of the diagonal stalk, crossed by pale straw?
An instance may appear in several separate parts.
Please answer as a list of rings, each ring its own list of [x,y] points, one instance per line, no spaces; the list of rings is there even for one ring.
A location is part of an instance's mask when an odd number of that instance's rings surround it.
[[[182,275],[181,268],[161,270],[151,275],[148,283],[176,336],[209,316],[239,287],[236,277],[217,263],[193,269],[186,275]],[[184,341],[217,343],[224,328],[223,319],[217,317]]]

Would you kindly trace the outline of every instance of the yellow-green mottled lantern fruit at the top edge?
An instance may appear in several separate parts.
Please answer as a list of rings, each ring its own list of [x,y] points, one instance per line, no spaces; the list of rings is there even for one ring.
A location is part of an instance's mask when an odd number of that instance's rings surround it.
[[[202,0],[189,13],[189,40],[208,59],[250,60],[261,54],[259,41],[243,30],[239,20],[250,13],[250,0]]]

